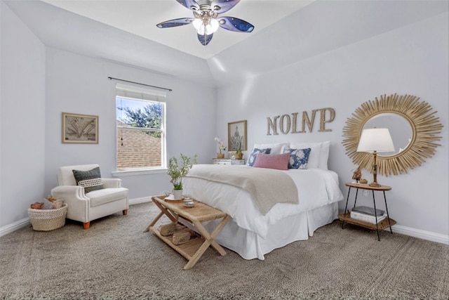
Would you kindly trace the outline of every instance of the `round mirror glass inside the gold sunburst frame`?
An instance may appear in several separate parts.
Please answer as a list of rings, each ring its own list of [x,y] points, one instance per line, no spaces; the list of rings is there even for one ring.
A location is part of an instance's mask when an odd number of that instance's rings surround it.
[[[388,128],[393,140],[394,152],[380,152],[377,156],[388,157],[405,150],[412,141],[413,130],[406,118],[394,113],[385,112],[368,119],[363,129]]]

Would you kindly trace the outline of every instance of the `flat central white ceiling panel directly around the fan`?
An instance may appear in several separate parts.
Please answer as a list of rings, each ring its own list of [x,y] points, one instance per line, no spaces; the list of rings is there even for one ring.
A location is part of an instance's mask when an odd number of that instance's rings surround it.
[[[156,24],[166,20],[192,18],[192,11],[176,0],[42,1],[199,58],[210,58],[314,0],[241,0],[223,15],[246,20],[255,26],[255,30],[241,33],[219,28],[207,46],[199,43],[193,25],[162,29],[156,27]]]

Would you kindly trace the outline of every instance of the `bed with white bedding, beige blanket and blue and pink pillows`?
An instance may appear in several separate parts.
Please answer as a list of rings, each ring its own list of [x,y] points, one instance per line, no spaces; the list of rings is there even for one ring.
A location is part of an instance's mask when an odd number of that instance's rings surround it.
[[[307,159],[302,152],[303,164],[299,168],[276,168],[277,162],[262,167],[257,165],[257,162],[262,162],[262,157],[269,161],[289,156],[290,167],[292,149],[310,149]],[[247,165],[194,165],[183,182],[184,195],[225,211],[232,217],[217,235],[219,244],[232,249],[243,259],[263,260],[264,254],[297,240],[307,240],[317,228],[337,219],[337,202],[343,199],[343,195],[337,174],[327,168],[328,150],[329,142],[255,144]],[[255,181],[248,181],[243,186],[222,180],[234,178],[237,173],[251,174],[248,177],[259,181],[267,177],[266,180],[272,180],[272,183],[262,184],[267,186],[263,190],[263,186],[253,187]],[[284,185],[283,182],[293,185]],[[264,201],[276,201],[269,203],[268,207],[267,203],[260,204],[257,198],[262,196],[255,190],[261,190],[262,195],[268,198]],[[215,226],[214,221],[206,223],[208,230]]]

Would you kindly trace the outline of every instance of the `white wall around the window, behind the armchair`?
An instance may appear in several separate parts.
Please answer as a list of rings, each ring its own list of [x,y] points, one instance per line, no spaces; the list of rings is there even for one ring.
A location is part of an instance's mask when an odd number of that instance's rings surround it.
[[[47,49],[46,64],[46,178],[45,190],[56,184],[58,167],[70,164],[100,164],[102,176],[116,170],[115,84],[108,77],[173,89],[167,93],[167,155],[199,155],[210,162],[215,152],[215,89],[175,77],[88,58],[55,48]],[[61,143],[61,113],[99,116],[99,143]],[[204,125],[207,126],[204,126]],[[213,126],[210,126],[213,124]],[[130,189],[130,199],[159,195],[171,189],[165,172],[121,176]]]

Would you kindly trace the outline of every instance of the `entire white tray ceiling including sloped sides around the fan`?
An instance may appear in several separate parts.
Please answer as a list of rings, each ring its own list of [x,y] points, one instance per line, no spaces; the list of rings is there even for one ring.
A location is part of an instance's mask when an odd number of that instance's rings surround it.
[[[175,0],[1,1],[48,51],[61,49],[208,86],[254,78],[449,11],[448,1],[241,0],[225,15],[247,20],[255,30],[219,29],[203,46],[191,25],[156,27],[189,15]]]

